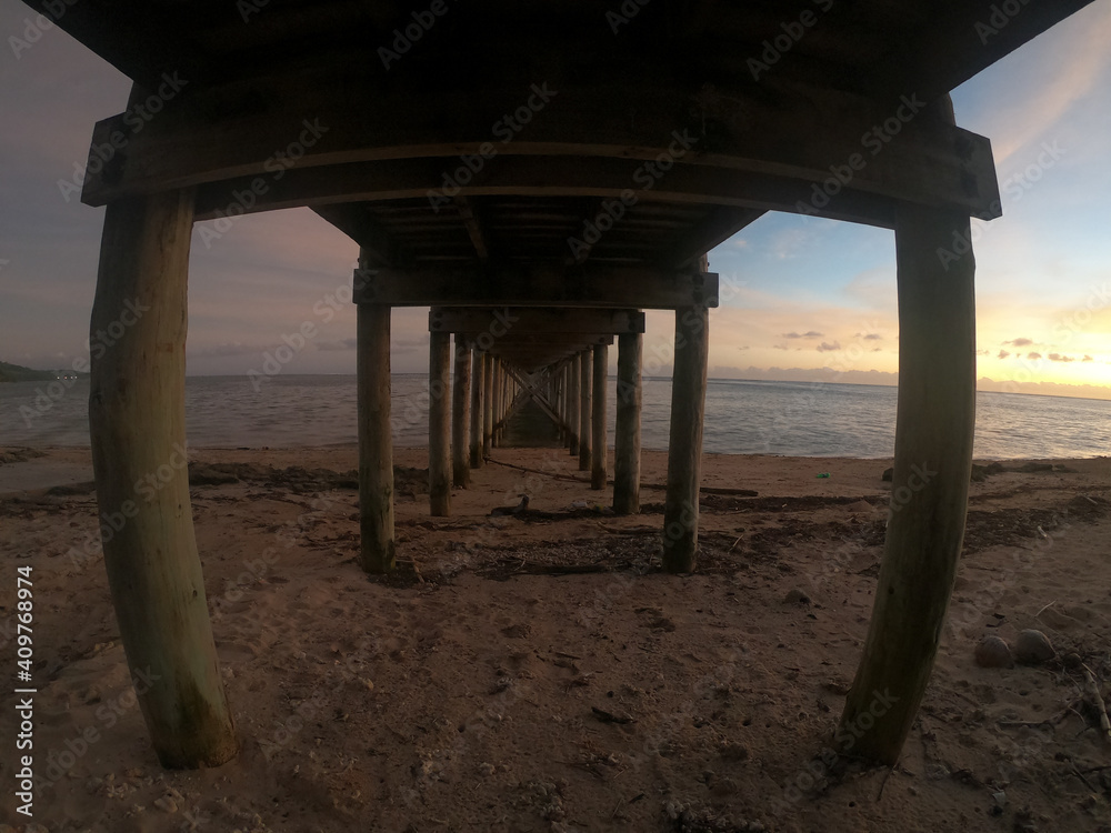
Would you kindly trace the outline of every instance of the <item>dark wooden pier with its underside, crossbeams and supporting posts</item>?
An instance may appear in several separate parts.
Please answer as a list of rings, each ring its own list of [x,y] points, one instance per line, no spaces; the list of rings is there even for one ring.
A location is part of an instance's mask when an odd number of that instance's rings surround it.
[[[56,3],[28,4],[50,16]],[[642,311],[674,311],[661,553],[690,572],[709,310],[729,289],[705,253],[767,211],[892,229],[893,486],[911,498],[888,524],[842,726],[854,754],[893,763],[964,528],[974,262],[953,241],[969,240],[971,217],[1001,213],[990,143],[954,124],[948,93],[1084,4],[67,4],[57,24],[134,81],[127,110],[96,126],[82,195],[107,205],[93,330],[126,301],[151,309],[93,362],[101,509],[184,442],[192,223],[309,207],[359,248],[366,570],[396,560],[390,310],[414,305],[431,308],[434,514],[526,401],[604,488],[614,342],[613,505],[637,512]],[[912,482],[912,468],[931,478]],[[238,740],[183,470],[104,553],[129,663],[158,681],[140,701],[160,760],[229,760]]]

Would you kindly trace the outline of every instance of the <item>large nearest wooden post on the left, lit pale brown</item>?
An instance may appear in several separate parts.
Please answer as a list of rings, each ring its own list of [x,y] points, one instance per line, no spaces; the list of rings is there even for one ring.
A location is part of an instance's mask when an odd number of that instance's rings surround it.
[[[134,323],[93,354],[92,464],[116,619],[163,766],[217,766],[238,743],[193,535],[186,451],[191,191],[109,203],[91,332]],[[140,309],[136,315],[130,310]],[[157,478],[158,490],[140,489]],[[109,520],[109,519],[118,519]]]

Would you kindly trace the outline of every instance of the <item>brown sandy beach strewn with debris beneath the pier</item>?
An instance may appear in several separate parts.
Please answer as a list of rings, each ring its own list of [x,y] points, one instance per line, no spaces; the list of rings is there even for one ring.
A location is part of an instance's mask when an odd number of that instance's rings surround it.
[[[563,451],[494,449],[433,519],[426,452],[399,449],[400,569],[381,580],[354,561],[353,448],[191,454],[242,751],[169,772],[128,679],[88,450],[0,450],[0,659],[14,668],[31,565],[50,833],[1111,831],[1111,742],[1083,672],[1111,700],[1107,458],[977,472],[938,664],[885,770],[829,747],[890,460],[707,455],[698,572],[672,576],[663,453],[643,455],[640,515],[609,513]],[[489,518],[523,493],[528,512]],[[1024,629],[1057,655],[977,665],[984,635]],[[6,707],[0,817],[39,831],[14,812],[14,725]]]

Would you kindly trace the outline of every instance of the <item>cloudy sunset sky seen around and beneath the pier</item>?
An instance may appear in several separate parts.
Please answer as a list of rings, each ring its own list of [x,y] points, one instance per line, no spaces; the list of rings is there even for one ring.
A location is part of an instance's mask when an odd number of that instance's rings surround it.
[[[88,358],[103,223],[59,183],[83,165],[93,123],[122,112],[130,81],[57,28],[30,42],[30,17],[0,0],[0,360],[58,369]],[[973,221],[982,390],[1111,399],[1108,43],[1111,0],[1097,0],[953,91],[958,124],[991,139],[1003,202],[1001,219]],[[317,335],[283,371],[354,371],[354,308],[337,300],[350,239],[307,209],[238,218],[220,235],[202,225],[190,374],[246,378],[306,322]],[[894,258],[889,230],[765,214],[710,253],[725,288],[710,375],[893,384]],[[393,311],[394,372],[427,371],[427,313]],[[672,338],[672,315],[650,312],[645,373],[670,372]]]

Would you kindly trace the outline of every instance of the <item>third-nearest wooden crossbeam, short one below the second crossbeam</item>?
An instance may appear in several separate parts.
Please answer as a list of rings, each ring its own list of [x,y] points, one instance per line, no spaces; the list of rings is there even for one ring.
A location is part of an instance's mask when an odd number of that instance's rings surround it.
[[[543,309],[538,307],[500,307],[486,310],[474,307],[432,307],[428,313],[428,331],[461,332],[472,338],[487,333],[486,347],[496,341],[547,335],[620,335],[644,332],[644,313],[640,310]]]

